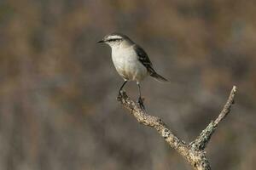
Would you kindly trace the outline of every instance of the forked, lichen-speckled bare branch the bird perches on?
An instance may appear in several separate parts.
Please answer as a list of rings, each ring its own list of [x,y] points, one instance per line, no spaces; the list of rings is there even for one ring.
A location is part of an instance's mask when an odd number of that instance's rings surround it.
[[[218,123],[230,113],[231,105],[234,104],[235,95],[236,86],[232,88],[230,97],[218,118],[214,122],[210,122],[210,124],[201,132],[200,136],[190,144],[186,144],[183,140],[178,139],[177,136],[174,135],[166,126],[166,123],[159,117],[151,116],[141,110],[139,105],[131,100],[124,91],[121,92],[118,100],[128,111],[131,112],[131,115],[135,116],[137,122],[148,127],[153,127],[158,133],[160,133],[160,136],[163,137],[173,149],[177,150],[177,152],[183,156],[195,170],[210,170],[210,163],[207,160],[204,149],[210,141],[212,133],[214,133],[218,127]]]

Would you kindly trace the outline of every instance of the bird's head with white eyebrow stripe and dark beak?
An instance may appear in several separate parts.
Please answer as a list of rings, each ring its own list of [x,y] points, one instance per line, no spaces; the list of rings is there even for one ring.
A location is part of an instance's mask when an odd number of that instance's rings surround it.
[[[112,33],[105,36],[98,43],[107,43],[111,48],[117,48],[120,46],[130,45],[133,43],[131,39],[124,34]]]

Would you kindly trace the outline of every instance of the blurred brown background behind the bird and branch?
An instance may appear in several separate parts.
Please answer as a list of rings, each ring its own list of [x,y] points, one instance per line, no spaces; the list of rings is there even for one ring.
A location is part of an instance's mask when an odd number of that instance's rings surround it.
[[[190,169],[116,101],[123,80],[96,42],[119,31],[171,81],[148,77],[145,105],[188,143],[238,87],[207,156],[212,169],[253,170],[255,11],[253,0],[1,0],[0,169]],[[136,83],[125,90],[137,99]]]

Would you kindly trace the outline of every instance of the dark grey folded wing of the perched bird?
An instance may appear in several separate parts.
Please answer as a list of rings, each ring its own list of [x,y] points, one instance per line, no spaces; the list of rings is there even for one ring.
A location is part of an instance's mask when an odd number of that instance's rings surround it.
[[[134,50],[137,53],[139,61],[147,68],[149,74],[151,75],[151,74],[155,73],[155,71],[153,69],[153,65],[152,65],[150,59],[148,58],[148,54],[146,54],[146,52],[143,50],[143,48],[141,48],[138,45],[135,45]]]

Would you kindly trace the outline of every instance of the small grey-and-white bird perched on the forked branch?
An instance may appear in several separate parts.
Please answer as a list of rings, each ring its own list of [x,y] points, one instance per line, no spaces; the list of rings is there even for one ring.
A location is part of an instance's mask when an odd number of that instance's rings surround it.
[[[98,43],[106,43],[111,48],[113,65],[124,82],[119,88],[119,96],[128,81],[136,81],[138,88],[137,103],[141,109],[145,110],[141,94],[141,82],[147,76],[154,77],[160,82],[168,82],[165,77],[160,76],[148,58],[148,54],[133,42],[130,37],[114,32],[103,37]]]

